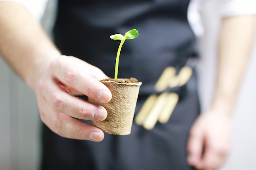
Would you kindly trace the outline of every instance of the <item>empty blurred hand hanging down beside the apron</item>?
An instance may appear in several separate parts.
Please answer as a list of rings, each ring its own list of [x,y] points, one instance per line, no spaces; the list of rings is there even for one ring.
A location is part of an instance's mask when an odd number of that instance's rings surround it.
[[[191,128],[188,162],[199,170],[222,166],[231,145],[231,118],[220,110],[200,115]]]

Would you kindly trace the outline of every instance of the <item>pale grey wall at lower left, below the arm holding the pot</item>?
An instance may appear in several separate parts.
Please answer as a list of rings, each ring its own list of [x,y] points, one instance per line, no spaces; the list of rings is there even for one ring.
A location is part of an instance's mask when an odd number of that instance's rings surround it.
[[[0,58],[0,170],[35,170],[39,118],[32,91]]]

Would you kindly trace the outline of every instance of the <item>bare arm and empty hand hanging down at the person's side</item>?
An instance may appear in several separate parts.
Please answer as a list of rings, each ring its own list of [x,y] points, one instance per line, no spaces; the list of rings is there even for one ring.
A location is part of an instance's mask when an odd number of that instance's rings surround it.
[[[220,168],[230,150],[231,114],[251,54],[254,24],[253,15],[222,19],[213,102],[195,121],[188,142],[188,161],[200,170]]]

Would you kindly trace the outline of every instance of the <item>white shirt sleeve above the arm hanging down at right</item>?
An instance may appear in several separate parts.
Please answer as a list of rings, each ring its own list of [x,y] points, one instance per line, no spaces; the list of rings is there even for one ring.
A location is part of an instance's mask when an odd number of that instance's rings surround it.
[[[256,0],[218,0],[217,9],[222,17],[256,15]]]

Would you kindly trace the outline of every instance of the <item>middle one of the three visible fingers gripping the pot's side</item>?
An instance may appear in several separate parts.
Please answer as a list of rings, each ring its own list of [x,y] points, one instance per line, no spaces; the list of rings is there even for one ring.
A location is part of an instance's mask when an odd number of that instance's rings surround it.
[[[102,121],[107,117],[107,111],[103,106],[70,95],[57,82],[47,83],[47,88],[42,88],[42,93],[49,105],[60,113],[85,120]]]

